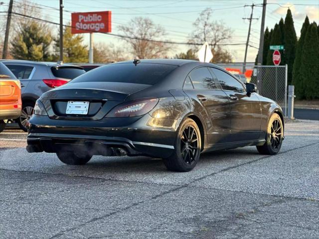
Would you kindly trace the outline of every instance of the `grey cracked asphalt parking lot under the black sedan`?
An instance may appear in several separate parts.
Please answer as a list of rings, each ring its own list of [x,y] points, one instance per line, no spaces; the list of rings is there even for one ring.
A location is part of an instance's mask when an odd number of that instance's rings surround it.
[[[64,165],[25,136],[0,134],[1,239],[319,238],[319,121],[287,123],[278,155],[212,152],[188,173],[148,157]]]

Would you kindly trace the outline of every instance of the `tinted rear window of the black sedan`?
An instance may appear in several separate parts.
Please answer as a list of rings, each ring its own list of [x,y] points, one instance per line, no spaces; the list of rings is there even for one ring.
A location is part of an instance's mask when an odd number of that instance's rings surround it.
[[[133,63],[111,64],[89,71],[70,83],[76,82],[122,82],[154,85],[177,66],[164,64]]]

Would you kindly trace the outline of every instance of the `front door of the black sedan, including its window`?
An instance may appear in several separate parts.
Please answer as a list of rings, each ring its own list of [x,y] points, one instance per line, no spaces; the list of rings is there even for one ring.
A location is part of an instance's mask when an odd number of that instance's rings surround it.
[[[212,68],[230,102],[231,141],[255,140],[260,135],[261,109],[255,94],[247,95],[244,85],[229,73]]]

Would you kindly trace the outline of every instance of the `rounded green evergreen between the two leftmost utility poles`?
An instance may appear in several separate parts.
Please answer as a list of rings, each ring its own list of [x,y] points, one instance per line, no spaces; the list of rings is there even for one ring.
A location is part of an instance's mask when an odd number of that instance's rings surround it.
[[[19,30],[11,41],[11,55],[14,59],[50,61],[49,47],[51,31],[44,24],[27,21],[19,24]]]

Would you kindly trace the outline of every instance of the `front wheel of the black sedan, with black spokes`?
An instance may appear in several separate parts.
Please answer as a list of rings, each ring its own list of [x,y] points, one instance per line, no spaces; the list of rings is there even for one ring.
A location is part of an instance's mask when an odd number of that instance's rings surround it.
[[[280,116],[274,113],[267,126],[266,142],[264,145],[256,146],[260,154],[274,155],[281,148],[284,139],[284,125]]]

